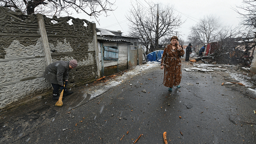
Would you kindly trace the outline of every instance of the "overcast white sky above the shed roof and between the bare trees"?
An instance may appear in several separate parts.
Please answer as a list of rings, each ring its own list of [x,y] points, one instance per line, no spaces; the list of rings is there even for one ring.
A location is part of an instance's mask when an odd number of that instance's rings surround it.
[[[145,9],[148,9],[146,1],[152,1],[155,4],[173,5],[175,12],[180,14],[183,20],[186,20],[181,28],[177,31],[180,32],[183,40],[186,40],[190,33],[189,28],[199,22],[204,16],[213,14],[219,18],[222,25],[237,26],[239,24],[239,14],[232,9],[242,4],[242,0],[116,0],[115,6],[112,6],[115,11],[109,11],[107,17],[102,14],[96,22],[95,19],[90,18],[86,14],[72,14],[72,17],[79,19],[86,19],[88,21],[95,21],[98,28],[109,30],[121,30],[124,34],[128,34],[128,21],[126,15],[129,14],[131,3],[135,4],[136,1]],[[157,9],[157,7],[155,7]],[[175,30],[176,31],[176,30]]]

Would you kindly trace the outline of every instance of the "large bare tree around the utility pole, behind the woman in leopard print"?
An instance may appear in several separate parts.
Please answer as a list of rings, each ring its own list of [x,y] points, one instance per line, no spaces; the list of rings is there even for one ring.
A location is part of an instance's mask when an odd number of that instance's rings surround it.
[[[127,19],[129,20],[129,35],[141,38],[141,44],[151,52],[157,50],[155,47],[157,31],[157,9],[156,4],[149,4],[149,9],[145,9],[140,4],[132,4]],[[174,29],[183,22],[181,17],[174,13],[173,7],[165,6],[159,10],[158,39],[164,39],[174,34]],[[150,47],[150,48],[149,48]]]

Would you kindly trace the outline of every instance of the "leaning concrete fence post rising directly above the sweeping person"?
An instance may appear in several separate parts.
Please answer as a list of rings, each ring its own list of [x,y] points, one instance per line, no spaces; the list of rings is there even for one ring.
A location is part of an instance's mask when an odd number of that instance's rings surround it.
[[[43,51],[45,53],[45,61],[46,65],[48,66],[50,63],[52,63],[52,56],[51,56],[51,51],[49,47],[49,41],[45,29],[45,20],[43,19],[42,14],[36,14],[37,16],[37,21],[38,21],[38,26],[39,26],[39,31],[41,35],[41,40],[42,40],[42,45],[43,45]]]

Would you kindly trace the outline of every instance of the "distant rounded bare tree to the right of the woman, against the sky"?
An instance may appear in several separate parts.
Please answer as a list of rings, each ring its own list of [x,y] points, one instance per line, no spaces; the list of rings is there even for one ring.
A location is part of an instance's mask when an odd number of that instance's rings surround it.
[[[210,43],[216,40],[219,34],[220,24],[216,17],[209,15],[200,19],[200,22],[195,26],[191,26],[190,30],[188,40],[193,44]]]

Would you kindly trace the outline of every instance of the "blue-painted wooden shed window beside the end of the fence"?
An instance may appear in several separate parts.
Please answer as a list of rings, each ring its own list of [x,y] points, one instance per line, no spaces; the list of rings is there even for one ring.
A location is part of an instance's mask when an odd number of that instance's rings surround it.
[[[104,60],[118,60],[118,48],[104,46]]]

